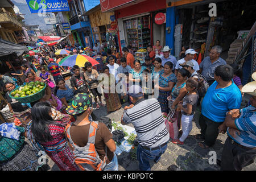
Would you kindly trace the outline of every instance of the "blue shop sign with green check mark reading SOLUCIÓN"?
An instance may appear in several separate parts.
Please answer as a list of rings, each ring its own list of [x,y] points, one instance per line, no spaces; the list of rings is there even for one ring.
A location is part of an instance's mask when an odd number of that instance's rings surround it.
[[[70,11],[67,0],[26,0],[30,13]]]

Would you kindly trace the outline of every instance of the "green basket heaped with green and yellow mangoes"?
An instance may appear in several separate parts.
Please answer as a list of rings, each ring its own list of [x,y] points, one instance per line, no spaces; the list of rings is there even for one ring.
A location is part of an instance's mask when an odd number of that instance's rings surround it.
[[[11,91],[10,97],[21,103],[31,103],[42,98],[45,92],[46,84],[44,82],[31,81]]]

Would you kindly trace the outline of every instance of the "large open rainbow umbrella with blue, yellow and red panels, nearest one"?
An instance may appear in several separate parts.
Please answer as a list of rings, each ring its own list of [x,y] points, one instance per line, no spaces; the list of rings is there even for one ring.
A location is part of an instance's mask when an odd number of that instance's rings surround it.
[[[100,63],[98,63],[98,61],[96,61],[95,59],[93,59],[90,56],[78,54],[78,55],[71,55],[71,56],[67,56],[67,57],[63,58],[59,62],[59,65],[67,66],[67,67],[73,67],[73,65],[78,65],[81,68],[81,67],[84,67],[84,64],[87,61],[92,63],[92,66],[100,64]]]

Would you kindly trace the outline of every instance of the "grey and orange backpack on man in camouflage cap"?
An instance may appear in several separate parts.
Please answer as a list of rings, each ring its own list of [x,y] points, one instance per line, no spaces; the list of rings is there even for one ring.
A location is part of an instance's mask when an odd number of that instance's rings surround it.
[[[99,129],[98,122],[90,122],[88,142],[84,147],[77,146],[71,139],[71,125],[72,122],[66,126],[65,135],[67,137],[69,147],[71,147],[71,149],[73,150],[75,163],[77,164],[77,166],[81,169],[81,171],[102,171],[106,166],[106,155],[104,157],[104,160],[102,161],[94,146],[96,132]]]

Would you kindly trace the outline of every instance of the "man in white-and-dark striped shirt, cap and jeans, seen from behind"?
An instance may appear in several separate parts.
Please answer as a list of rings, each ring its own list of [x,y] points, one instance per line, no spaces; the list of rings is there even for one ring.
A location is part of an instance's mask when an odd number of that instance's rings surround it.
[[[137,159],[139,169],[150,171],[149,160],[157,163],[166,151],[169,134],[164,124],[158,100],[144,100],[142,88],[132,85],[129,98],[134,105],[126,106],[121,118],[122,125],[132,123],[138,138]]]

